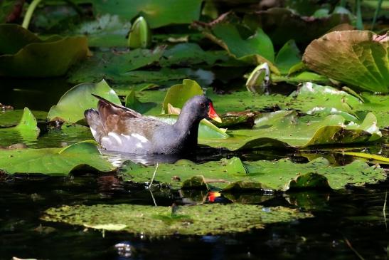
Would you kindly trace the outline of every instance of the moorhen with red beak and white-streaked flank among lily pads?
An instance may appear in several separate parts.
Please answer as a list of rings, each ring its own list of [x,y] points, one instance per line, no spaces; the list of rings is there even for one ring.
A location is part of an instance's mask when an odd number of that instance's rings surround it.
[[[196,150],[198,124],[203,118],[221,122],[212,101],[195,95],[181,110],[174,125],[149,118],[98,95],[97,110],[85,110],[95,140],[105,150],[133,154],[188,154]]]

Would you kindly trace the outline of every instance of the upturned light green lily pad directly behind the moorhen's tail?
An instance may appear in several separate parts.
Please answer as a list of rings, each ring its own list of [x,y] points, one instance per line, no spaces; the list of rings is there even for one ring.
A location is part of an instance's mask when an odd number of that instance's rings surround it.
[[[84,111],[89,108],[97,108],[97,98],[93,95],[100,95],[102,98],[110,100],[112,103],[121,105],[119,98],[114,90],[105,82],[100,83],[82,83],[75,85],[68,90],[57,105],[53,105],[48,111],[48,120],[62,120],[75,123],[84,118]]]

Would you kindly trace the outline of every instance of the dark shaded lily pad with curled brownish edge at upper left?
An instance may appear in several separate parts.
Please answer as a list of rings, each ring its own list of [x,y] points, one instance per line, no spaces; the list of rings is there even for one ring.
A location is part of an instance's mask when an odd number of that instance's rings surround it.
[[[0,76],[62,76],[88,53],[83,36],[53,36],[42,41],[17,24],[0,25],[0,42]]]

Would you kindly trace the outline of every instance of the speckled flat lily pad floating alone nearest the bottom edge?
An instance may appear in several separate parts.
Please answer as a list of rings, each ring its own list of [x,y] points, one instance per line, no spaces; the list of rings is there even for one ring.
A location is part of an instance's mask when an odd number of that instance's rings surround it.
[[[308,217],[312,215],[295,209],[244,204],[203,204],[174,208],[97,204],[50,208],[41,219],[155,237],[247,232],[263,229],[266,224]]]

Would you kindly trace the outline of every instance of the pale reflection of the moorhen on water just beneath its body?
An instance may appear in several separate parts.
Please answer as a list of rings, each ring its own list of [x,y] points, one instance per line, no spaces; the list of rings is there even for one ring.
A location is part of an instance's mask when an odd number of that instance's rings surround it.
[[[137,155],[124,152],[114,152],[100,150],[102,157],[112,163],[114,167],[119,167],[123,162],[131,160],[142,165],[156,165],[157,163],[174,163],[181,159],[196,161],[196,155]]]

